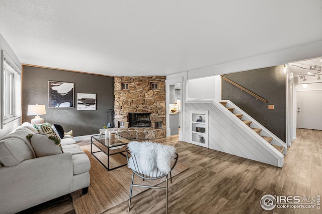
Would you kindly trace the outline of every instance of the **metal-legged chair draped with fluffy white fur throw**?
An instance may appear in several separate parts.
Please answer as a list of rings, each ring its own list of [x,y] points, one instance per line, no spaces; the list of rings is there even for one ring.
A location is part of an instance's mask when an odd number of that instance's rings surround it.
[[[178,157],[179,155],[176,153],[174,146],[151,141],[132,141],[127,145],[126,158],[128,167],[133,171],[128,211],[130,211],[131,206],[132,187],[137,186],[165,189],[168,213],[168,174],[170,173],[170,182],[172,183],[171,171],[176,166]],[[155,180],[166,177],[166,187],[133,184],[134,174],[143,178],[143,180]]]

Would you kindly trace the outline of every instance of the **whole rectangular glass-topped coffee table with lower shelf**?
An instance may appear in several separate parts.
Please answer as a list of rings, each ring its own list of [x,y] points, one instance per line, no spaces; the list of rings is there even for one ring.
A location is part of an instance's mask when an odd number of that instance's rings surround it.
[[[98,134],[91,136],[91,154],[108,170],[116,169],[127,165],[126,161],[126,147],[131,139],[121,135],[112,133],[110,139],[105,134]],[[93,149],[93,145],[95,146]],[[104,154],[103,154],[103,153]],[[97,154],[98,153],[98,154]],[[110,163],[110,156],[121,155]],[[123,158],[124,156],[124,158]],[[116,156],[115,156],[116,157]],[[112,165],[112,166],[110,166]]]

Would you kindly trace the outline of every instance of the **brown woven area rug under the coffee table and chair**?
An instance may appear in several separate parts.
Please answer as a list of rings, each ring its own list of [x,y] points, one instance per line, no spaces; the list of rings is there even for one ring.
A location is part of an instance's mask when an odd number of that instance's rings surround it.
[[[94,146],[93,146],[94,148]],[[123,166],[111,171],[105,169],[101,163],[95,159],[91,154],[91,145],[82,146],[91,160],[91,183],[89,192],[85,195],[82,190],[77,190],[71,193],[73,206],[75,212],[81,213],[102,213],[126,200],[129,199],[129,191],[131,186],[132,170],[127,166]],[[94,150],[93,150],[94,151]],[[103,152],[96,153],[103,162],[107,162],[107,155]],[[121,154],[110,156],[110,164],[116,165],[126,162],[126,157]],[[177,165],[172,171],[172,176],[185,171],[188,166],[180,163],[180,157]],[[165,181],[165,178],[158,180],[145,180],[139,179],[134,176],[134,183],[157,185]],[[169,180],[170,182],[170,180]],[[134,187],[132,190],[132,197],[146,190],[146,188]]]

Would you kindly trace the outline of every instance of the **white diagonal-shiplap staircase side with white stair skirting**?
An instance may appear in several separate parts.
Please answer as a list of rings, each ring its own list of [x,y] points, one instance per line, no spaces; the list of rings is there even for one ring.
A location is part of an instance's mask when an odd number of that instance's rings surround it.
[[[187,116],[189,112],[191,110],[209,111],[208,144],[210,149],[282,167],[283,154],[287,153],[285,143],[229,100],[224,102],[226,102],[226,107],[215,100],[186,101],[185,141],[191,140],[189,134],[191,121]],[[232,108],[233,114],[230,111]],[[259,129],[261,129],[260,135],[258,134]],[[267,143],[262,136],[272,138],[270,143]],[[271,144],[284,147],[283,154]]]

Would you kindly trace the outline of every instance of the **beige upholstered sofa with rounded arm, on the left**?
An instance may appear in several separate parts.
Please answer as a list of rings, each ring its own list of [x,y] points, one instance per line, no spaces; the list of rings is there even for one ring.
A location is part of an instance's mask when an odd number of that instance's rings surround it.
[[[15,213],[78,189],[86,194],[90,185],[90,160],[72,137],[61,139],[64,153],[37,157],[33,139],[26,138],[35,134],[30,125],[24,123],[0,139],[1,213]]]

